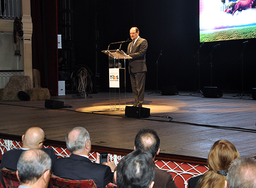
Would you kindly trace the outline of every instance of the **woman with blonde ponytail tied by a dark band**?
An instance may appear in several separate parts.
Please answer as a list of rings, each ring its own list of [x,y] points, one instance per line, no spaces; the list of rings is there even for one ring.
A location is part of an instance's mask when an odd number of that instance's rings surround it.
[[[218,140],[208,155],[209,170],[188,181],[188,188],[224,188],[230,163],[240,158],[237,148],[228,140]]]

